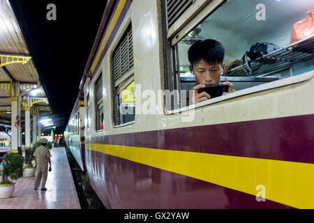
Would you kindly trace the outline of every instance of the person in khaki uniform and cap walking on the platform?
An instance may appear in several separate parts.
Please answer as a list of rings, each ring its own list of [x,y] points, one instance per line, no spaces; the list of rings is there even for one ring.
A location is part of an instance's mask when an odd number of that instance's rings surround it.
[[[50,170],[51,170],[50,157],[52,157],[49,149],[46,147],[47,143],[48,143],[47,139],[41,139],[40,140],[41,146],[37,147],[35,152],[33,153],[33,156],[35,157],[35,162],[36,162],[36,178],[35,178],[35,184],[33,187],[34,190],[37,190],[37,188],[39,187],[40,180],[42,180],[41,190],[47,190],[47,188],[45,187],[45,184],[46,184],[47,174],[48,174],[47,172],[48,163],[50,164]]]

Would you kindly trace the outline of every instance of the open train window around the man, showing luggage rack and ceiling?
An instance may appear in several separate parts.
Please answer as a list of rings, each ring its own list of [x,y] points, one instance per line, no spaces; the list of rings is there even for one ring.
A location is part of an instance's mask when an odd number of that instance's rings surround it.
[[[196,84],[189,68],[188,49],[197,40],[214,39],[224,46],[225,70],[220,82],[232,82],[235,90],[314,69],[313,39],[304,40],[305,47],[299,51],[290,45],[292,26],[307,17],[308,10],[314,10],[312,1],[181,1],[181,7],[186,7],[184,14],[180,7],[173,8],[174,1],[164,1],[164,4],[168,16],[165,62],[170,64],[165,89],[181,92],[178,94],[180,107],[182,91]],[[273,43],[279,49],[269,57],[248,59],[250,70],[242,58],[255,43]]]

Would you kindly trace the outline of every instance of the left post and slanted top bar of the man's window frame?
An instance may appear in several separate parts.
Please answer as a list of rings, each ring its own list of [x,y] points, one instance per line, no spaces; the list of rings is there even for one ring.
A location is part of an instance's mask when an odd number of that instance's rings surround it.
[[[167,19],[167,1],[163,0],[160,4],[163,63],[165,66],[164,89],[172,92],[175,91],[173,97],[170,96],[170,102],[166,102],[167,97],[163,95],[166,114],[182,107],[179,56],[176,56],[178,54],[177,43],[190,31],[195,29],[202,20],[205,20],[219,6],[225,3],[225,1],[227,0],[195,0],[186,9],[186,12],[180,15],[170,27],[168,27]],[[163,30],[167,30],[167,32]]]

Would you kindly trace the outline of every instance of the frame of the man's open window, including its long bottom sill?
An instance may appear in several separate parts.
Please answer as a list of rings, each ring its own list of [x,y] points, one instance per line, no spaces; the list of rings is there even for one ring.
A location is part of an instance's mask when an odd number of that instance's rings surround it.
[[[180,91],[181,84],[179,84],[178,86],[178,84],[176,83],[176,81],[178,80],[178,77],[180,78],[179,61],[178,61],[179,56],[176,56],[176,54],[178,54],[177,46],[178,46],[179,41],[182,40],[185,36],[187,36],[188,33],[190,33],[190,31],[193,31],[193,29],[195,29],[204,20],[206,20],[207,17],[209,17],[211,13],[214,13],[221,5],[223,5],[223,3],[225,3],[225,0],[210,1],[206,6],[203,5],[202,7],[197,9],[200,12],[199,15],[195,15],[195,13],[190,11],[188,15],[193,16],[193,18],[191,19],[186,18],[186,20],[188,20],[186,23],[181,21],[181,26],[175,25],[176,22],[174,22],[172,26],[177,26],[176,27],[177,29],[173,31],[172,29],[167,27],[167,5],[166,5],[167,1],[165,0],[163,1],[163,3],[160,6],[161,7],[160,26],[163,28],[161,30],[164,30],[166,28],[167,33],[164,34],[164,32],[162,32],[160,35],[162,36],[162,40],[163,40],[163,57],[164,57],[163,63],[164,63],[164,68],[165,68],[165,77],[163,78],[163,84],[164,84],[165,90],[170,90],[170,91],[179,90]],[[291,68],[290,68],[290,73],[291,73]],[[204,102],[199,102],[195,105],[190,105],[186,107],[181,107],[181,98],[180,98],[181,93],[179,93],[178,94],[179,99],[177,100],[179,100],[180,105],[178,109],[174,109],[173,107],[167,107],[166,102],[164,100],[165,114],[167,115],[181,114],[182,112],[186,112],[191,109],[203,108],[205,106],[212,105],[218,102],[232,100],[234,98],[238,98],[243,95],[255,94],[260,91],[276,89],[276,88],[284,87],[291,84],[299,84],[300,82],[305,82],[307,80],[308,80],[308,75],[305,75],[304,77],[297,77],[297,76],[291,77],[290,75],[290,77],[287,78],[287,80],[278,79],[276,81],[253,86],[248,89],[241,89],[241,91],[236,91],[232,94],[222,95],[218,98],[213,98],[211,100],[206,100]],[[176,88],[176,85],[177,85],[177,88]]]

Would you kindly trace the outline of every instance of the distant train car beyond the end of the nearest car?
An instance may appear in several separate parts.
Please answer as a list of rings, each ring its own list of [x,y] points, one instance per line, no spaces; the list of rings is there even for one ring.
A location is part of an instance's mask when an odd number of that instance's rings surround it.
[[[81,95],[75,102],[68,125],[64,132],[66,146],[73,154],[82,171],[86,171],[84,139],[84,97]]]

